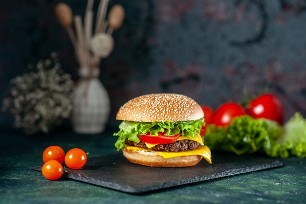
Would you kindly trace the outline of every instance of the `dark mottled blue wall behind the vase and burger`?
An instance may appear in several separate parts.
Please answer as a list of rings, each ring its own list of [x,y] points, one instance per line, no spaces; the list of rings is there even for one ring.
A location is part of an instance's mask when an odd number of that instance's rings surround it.
[[[29,63],[58,53],[78,79],[78,64],[53,8],[59,0],[0,0],[0,99]],[[65,0],[84,16],[86,0]],[[305,0],[110,0],[126,9],[100,79],[114,115],[132,97],[175,92],[217,108],[266,85],[285,105],[285,118],[306,115]],[[98,1],[95,1],[96,12]],[[7,113],[0,120],[11,122]],[[10,118],[10,119],[8,119]]]

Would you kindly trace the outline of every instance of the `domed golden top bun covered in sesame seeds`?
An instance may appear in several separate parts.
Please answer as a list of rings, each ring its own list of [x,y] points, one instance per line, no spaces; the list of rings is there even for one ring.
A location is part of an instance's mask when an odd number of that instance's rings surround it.
[[[197,102],[185,95],[153,93],[131,99],[119,109],[116,119],[136,122],[188,121],[204,117]]]

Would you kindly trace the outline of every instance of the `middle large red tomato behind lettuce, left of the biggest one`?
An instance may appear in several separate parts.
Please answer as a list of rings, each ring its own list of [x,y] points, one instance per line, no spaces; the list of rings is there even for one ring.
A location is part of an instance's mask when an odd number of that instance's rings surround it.
[[[246,111],[237,103],[224,103],[216,111],[214,122],[217,126],[226,126],[236,116],[245,115]]]

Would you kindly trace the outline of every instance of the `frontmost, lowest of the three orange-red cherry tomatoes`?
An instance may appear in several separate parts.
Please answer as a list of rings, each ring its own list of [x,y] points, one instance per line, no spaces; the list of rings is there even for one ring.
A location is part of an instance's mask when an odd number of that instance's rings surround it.
[[[58,180],[63,175],[63,166],[57,160],[48,160],[42,167],[42,173],[48,180]]]

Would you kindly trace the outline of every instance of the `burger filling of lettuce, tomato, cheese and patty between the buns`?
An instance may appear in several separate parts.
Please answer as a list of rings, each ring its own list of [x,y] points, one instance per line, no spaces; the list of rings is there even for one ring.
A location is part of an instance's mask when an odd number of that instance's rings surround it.
[[[177,122],[123,121],[115,146],[117,150],[126,145],[162,152],[181,152],[203,145],[203,118]]]

